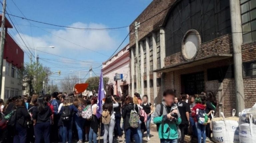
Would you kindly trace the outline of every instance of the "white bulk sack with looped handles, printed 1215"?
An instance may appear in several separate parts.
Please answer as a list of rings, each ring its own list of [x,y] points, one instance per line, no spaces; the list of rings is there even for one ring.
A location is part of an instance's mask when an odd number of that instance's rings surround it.
[[[238,117],[235,117],[236,110],[233,109],[232,117],[225,118],[221,112],[219,118],[212,118],[212,134],[216,143],[239,143]],[[212,114],[213,117],[213,114]]]

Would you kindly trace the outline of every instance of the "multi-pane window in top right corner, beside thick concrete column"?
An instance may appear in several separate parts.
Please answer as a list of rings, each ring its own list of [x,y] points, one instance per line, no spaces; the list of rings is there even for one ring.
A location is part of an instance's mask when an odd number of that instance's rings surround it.
[[[243,42],[256,41],[256,0],[240,0]]]

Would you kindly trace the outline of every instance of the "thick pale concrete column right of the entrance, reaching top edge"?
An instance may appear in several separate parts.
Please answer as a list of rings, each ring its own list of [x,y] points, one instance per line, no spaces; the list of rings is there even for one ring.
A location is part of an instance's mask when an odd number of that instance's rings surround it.
[[[244,82],[242,73],[242,22],[240,13],[240,1],[229,0],[231,15],[231,31],[234,57],[235,90],[236,90],[236,111],[241,112],[244,104]]]

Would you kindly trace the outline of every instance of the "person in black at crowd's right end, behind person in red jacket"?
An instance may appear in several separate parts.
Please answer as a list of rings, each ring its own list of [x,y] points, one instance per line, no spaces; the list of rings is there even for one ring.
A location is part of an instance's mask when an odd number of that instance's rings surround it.
[[[206,113],[209,113],[211,110],[216,111],[217,103],[216,103],[216,99],[213,96],[212,92],[207,93],[207,101],[206,101],[205,105],[206,105],[206,108],[205,108]],[[210,120],[212,119],[211,114],[208,115],[208,118]],[[210,123],[207,123],[207,125],[206,125],[205,134],[206,134],[206,140],[210,140],[211,139]]]

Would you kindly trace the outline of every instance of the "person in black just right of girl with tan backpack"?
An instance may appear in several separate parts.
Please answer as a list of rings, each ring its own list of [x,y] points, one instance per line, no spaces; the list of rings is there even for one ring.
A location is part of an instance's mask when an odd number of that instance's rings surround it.
[[[114,96],[115,101],[118,103],[118,107],[114,108],[114,114],[115,114],[115,129],[116,129],[116,134],[117,139],[122,138],[122,132],[121,132],[121,99],[119,96]]]

